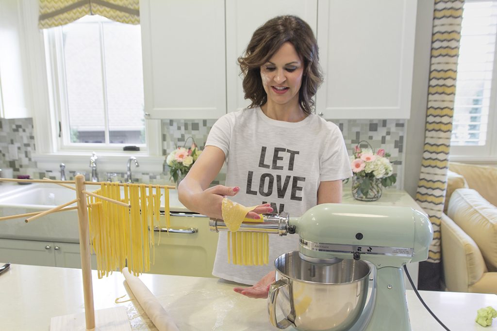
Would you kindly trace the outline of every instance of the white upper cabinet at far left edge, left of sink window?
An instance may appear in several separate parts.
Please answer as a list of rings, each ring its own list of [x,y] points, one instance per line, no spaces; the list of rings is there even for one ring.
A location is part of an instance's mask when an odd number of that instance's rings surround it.
[[[0,1],[0,118],[32,117],[22,1]]]

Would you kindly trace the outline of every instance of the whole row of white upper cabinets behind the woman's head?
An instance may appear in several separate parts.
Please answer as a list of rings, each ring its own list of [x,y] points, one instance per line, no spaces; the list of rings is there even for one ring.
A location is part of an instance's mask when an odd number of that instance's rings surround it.
[[[416,0],[142,0],[148,118],[217,119],[247,107],[237,59],[267,19],[309,23],[327,119],[408,119]]]

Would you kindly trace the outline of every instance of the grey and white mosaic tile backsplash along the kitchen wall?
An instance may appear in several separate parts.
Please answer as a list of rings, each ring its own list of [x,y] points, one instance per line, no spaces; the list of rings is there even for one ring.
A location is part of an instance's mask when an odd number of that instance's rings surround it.
[[[162,141],[163,154],[167,155],[176,147],[189,146],[193,139],[203,149],[209,131],[216,120],[163,120]],[[397,188],[401,188],[403,177],[404,138],[406,134],[405,120],[340,120],[334,122],[343,133],[349,154],[361,140],[367,140],[375,149],[384,148],[389,152],[397,174]],[[186,141],[189,137],[189,139]],[[32,160],[31,153],[35,150],[32,119],[0,119],[0,168],[12,168],[14,177],[30,175],[31,178],[59,178],[58,169],[39,169]],[[16,153],[12,153],[16,151]],[[12,158],[17,154],[17,158]],[[15,155],[14,155],[15,156]],[[63,161],[63,160],[61,160]],[[100,179],[107,178],[107,173],[99,173]],[[116,173],[117,180],[124,180],[124,173]],[[75,172],[66,174],[68,180],[73,179]],[[86,174],[88,176],[88,174]],[[133,172],[139,182],[167,183],[167,169],[163,173],[151,174]],[[226,172],[223,168],[213,184],[223,184]]]

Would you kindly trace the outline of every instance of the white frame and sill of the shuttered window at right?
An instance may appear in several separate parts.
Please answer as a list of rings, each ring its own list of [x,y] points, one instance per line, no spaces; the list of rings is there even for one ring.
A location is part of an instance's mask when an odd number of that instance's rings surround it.
[[[497,2],[497,0],[492,0]],[[482,0],[466,0],[466,2],[482,2]],[[484,146],[450,146],[450,161],[468,163],[497,162],[497,33],[494,49],[494,66],[492,68],[492,88],[490,92],[487,137]],[[456,84],[457,93],[457,84]]]

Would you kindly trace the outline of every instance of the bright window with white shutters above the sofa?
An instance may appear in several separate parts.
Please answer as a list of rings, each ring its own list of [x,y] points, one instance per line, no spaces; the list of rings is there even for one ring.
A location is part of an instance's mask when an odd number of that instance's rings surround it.
[[[466,0],[450,142],[455,157],[451,160],[497,159],[496,38],[497,1]]]

